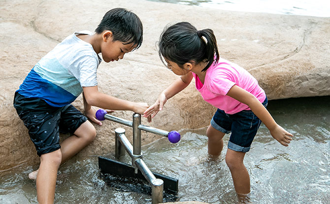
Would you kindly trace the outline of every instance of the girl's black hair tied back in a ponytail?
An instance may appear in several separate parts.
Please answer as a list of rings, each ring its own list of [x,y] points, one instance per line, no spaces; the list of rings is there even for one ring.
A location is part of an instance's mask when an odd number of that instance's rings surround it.
[[[217,40],[213,30],[197,30],[188,22],[180,22],[165,28],[158,47],[159,57],[164,64],[162,56],[177,63],[181,68],[186,62],[199,63],[206,59],[207,65],[202,69],[206,71],[213,62],[215,64],[219,60]],[[216,56],[215,60],[214,56]]]

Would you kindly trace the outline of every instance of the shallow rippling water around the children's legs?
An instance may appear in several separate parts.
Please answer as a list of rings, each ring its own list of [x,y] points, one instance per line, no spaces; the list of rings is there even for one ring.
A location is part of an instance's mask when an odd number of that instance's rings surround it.
[[[281,146],[261,126],[244,159],[251,176],[252,203],[329,204],[329,104],[329,96],[269,101],[269,112],[295,137],[289,147]],[[183,130],[177,144],[162,137],[143,146],[144,161],[152,171],[179,179],[177,201],[235,203],[231,174],[224,160],[229,135],[225,136],[220,158],[208,161],[205,130]],[[113,153],[108,157],[113,159]],[[124,161],[130,163],[130,158],[127,156]],[[37,167],[15,169],[0,178],[1,204],[37,203],[35,182],[27,176],[32,168]],[[60,168],[55,203],[151,203],[147,185],[131,185],[125,179],[124,184],[114,181],[107,185],[100,179],[97,157],[70,160]]]

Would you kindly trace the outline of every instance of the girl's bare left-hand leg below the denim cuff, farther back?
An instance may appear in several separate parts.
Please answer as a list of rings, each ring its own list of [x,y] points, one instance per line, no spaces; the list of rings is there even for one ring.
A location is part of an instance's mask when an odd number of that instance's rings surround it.
[[[212,125],[209,125],[206,130],[206,136],[208,138],[207,152],[211,155],[213,159],[217,158],[220,155],[224,147],[224,141],[222,140],[224,135],[225,133],[215,129],[214,127],[212,127]]]

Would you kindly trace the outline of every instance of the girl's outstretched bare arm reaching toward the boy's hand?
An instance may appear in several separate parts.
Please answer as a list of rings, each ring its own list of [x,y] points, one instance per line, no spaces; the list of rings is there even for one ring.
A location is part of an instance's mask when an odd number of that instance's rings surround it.
[[[163,109],[167,99],[170,99],[175,94],[179,93],[185,87],[187,87],[193,79],[193,74],[189,72],[186,75],[181,76],[177,80],[175,80],[171,85],[169,85],[158,97],[156,102],[151,105],[144,113],[143,117],[151,118],[155,117],[156,114]]]

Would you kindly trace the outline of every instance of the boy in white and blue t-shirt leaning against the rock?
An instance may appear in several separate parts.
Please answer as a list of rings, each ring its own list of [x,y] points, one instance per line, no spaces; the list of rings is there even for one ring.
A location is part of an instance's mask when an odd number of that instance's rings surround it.
[[[15,92],[14,107],[40,156],[40,167],[29,175],[36,178],[40,204],[54,202],[57,171],[96,137],[87,117],[96,119],[97,107],[129,110],[142,114],[146,103],[118,99],[98,91],[97,68],[101,62],[118,61],[142,43],[142,23],[123,8],[109,10],[96,33],[75,32],[41,58]],[[72,103],[83,92],[85,117]],[[59,132],[73,134],[59,143]]]

